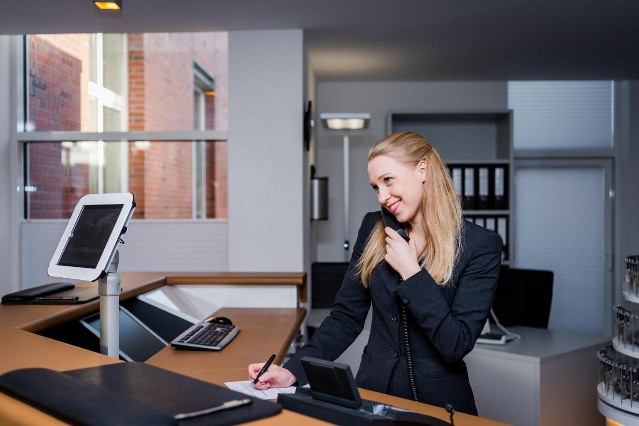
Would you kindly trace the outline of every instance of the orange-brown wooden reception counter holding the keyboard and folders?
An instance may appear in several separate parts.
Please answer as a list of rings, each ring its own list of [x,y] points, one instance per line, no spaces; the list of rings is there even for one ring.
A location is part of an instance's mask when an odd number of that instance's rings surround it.
[[[304,273],[120,273],[121,300],[146,293],[162,285],[295,285],[298,300],[305,301]],[[77,283],[91,286],[96,283]],[[80,319],[99,309],[98,301],[83,305],[0,305],[0,374],[29,367],[58,371],[94,367],[121,362],[105,355],[36,334],[52,326]],[[222,351],[175,351],[162,349],[146,362],[210,383],[247,379],[249,363],[264,361],[273,352],[281,363],[305,316],[304,308],[221,308],[217,314],[233,319],[242,331]],[[394,406],[448,420],[443,408],[419,404],[369,390],[360,390],[362,398],[387,402]],[[314,418],[283,410],[277,416],[257,422],[259,425],[326,424]],[[0,393],[0,424],[64,424],[42,411]],[[500,425],[475,416],[456,413],[455,424]]]

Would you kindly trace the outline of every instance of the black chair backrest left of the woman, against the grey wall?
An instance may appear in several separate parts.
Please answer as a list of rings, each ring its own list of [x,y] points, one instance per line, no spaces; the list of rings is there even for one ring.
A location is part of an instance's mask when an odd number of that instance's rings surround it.
[[[332,308],[348,270],[348,262],[313,262],[311,265],[311,307]]]

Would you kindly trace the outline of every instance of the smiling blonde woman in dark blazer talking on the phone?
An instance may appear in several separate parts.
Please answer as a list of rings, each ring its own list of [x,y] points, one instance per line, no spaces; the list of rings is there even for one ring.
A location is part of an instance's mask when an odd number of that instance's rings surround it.
[[[367,213],[330,316],[291,360],[271,365],[258,389],[307,383],[303,356],[335,360],[373,323],[357,372],[361,388],[412,399],[402,312],[420,402],[477,415],[463,357],[486,323],[499,273],[498,234],[463,220],[439,153],[420,135],[393,133],[374,144],[368,174],[381,208],[408,231],[408,243]],[[249,365],[254,379],[263,364]]]

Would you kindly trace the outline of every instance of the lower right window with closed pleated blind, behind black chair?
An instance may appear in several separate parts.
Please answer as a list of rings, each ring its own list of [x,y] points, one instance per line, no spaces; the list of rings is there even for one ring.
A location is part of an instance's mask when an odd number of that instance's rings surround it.
[[[603,333],[610,160],[521,160],[515,173],[518,268],[555,274],[548,328]]]

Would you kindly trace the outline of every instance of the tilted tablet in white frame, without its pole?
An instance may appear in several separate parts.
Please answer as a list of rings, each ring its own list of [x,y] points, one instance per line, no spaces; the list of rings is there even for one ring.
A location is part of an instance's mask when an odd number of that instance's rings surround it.
[[[49,276],[95,281],[105,275],[135,208],[134,195],[84,195],[49,262]]]

